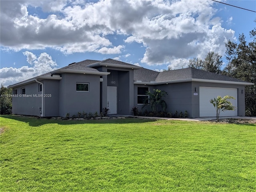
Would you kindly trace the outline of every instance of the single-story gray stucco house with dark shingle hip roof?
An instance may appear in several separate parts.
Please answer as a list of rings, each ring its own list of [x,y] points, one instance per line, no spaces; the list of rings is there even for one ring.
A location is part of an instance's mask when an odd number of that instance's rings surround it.
[[[213,117],[209,100],[234,96],[236,111],[220,116],[245,116],[242,80],[193,68],[156,72],[135,65],[106,59],[84,60],[55,71],[8,86],[12,88],[12,112],[31,116],[65,117],[77,112],[101,112],[130,115],[132,107],[143,106],[146,91],[168,92],[167,111],[188,111],[190,118]]]

